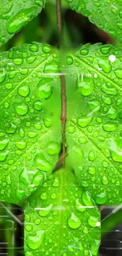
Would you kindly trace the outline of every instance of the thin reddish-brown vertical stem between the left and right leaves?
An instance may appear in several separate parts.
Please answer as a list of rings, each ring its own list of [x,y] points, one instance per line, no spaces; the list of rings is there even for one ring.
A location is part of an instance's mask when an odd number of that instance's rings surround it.
[[[57,1],[57,30],[58,30],[58,44],[57,48],[61,49],[62,41],[62,17],[61,17],[61,0]],[[65,76],[61,74],[61,123],[62,123],[62,155],[61,164],[65,167],[65,123],[66,123],[66,93],[65,93]]]

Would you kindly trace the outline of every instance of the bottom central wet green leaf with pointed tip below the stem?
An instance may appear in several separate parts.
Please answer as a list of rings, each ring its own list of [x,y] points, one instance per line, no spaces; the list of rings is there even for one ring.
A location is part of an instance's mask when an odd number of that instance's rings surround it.
[[[97,255],[100,213],[74,175],[61,169],[25,207],[25,255]]]

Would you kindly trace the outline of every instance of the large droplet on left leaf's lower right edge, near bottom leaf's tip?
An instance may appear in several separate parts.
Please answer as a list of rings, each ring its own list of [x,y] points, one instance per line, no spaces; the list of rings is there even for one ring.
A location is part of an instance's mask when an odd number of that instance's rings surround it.
[[[47,161],[42,153],[36,154],[35,156],[35,166],[45,172],[50,172],[52,170],[52,165],[50,161]]]

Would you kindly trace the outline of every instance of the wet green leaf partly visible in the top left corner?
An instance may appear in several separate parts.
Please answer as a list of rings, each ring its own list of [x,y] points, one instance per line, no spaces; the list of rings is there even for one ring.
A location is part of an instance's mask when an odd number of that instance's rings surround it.
[[[0,46],[20,31],[37,16],[46,0],[1,0],[0,2]]]

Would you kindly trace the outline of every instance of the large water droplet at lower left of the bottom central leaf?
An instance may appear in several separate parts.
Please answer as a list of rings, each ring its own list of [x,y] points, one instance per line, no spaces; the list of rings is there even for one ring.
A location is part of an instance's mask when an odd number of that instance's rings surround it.
[[[45,231],[38,230],[34,234],[27,236],[27,245],[31,250],[37,250],[43,243],[45,238]]]

